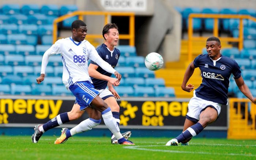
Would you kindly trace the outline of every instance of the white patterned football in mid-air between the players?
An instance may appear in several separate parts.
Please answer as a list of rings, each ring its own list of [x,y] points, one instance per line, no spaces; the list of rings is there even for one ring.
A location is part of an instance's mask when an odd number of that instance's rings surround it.
[[[156,71],[163,66],[163,57],[155,52],[149,53],[145,58],[145,65],[151,71]]]

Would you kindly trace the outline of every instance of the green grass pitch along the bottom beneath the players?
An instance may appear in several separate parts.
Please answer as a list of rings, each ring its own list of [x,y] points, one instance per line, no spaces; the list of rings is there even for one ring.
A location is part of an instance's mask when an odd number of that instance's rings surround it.
[[[74,136],[56,145],[53,136],[42,136],[37,144],[31,136],[0,136],[0,159],[17,160],[200,160],[256,159],[255,140],[193,138],[189,146],[165,146],[169,138],[131,137],[135,146],[112,145],[109,137]]]

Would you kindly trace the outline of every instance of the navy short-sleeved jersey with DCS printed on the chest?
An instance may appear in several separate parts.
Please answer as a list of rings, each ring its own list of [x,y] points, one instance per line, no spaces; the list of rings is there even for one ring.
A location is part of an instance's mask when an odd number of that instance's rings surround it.
[[[203,54],[195,58],[194,66],[199,67],[203,78],[202,83],[196,89],[196,96],[226,105],[230,75],[233,74],[234,79],[241,77],[237,62],[226,56],[221,56],[214,61],[208,54]]]

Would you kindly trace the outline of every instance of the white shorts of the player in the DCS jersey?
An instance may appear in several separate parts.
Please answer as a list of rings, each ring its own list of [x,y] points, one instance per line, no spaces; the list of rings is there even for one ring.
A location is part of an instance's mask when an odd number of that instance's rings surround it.
[[[193,122],[198,122],[200,113],[204,111],[207,107],[214,108],[217,111],[218,115],[219,113],[221,113],[221,104],[198,98],[196,97],[194,92],[194,96],[190,99],[188,103],[188,113],[186,118]]]

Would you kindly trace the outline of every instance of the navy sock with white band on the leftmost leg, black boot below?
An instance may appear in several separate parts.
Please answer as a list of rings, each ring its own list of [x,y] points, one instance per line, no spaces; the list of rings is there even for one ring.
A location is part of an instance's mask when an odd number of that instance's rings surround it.
[[[50,121],[48,121],[47,123],[45,123],[43,125],[43,129],[46,132],[49,129],[52,129],[54,127],[57,127],[59,125],[62,125],[63,123],[67,123],[69,122],[68,119],[68,113],[61,113],[59,115],[57,115],[56,117],[54,117],[53,119],[51,119]]]

